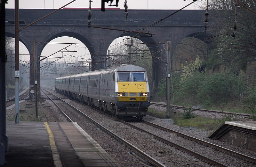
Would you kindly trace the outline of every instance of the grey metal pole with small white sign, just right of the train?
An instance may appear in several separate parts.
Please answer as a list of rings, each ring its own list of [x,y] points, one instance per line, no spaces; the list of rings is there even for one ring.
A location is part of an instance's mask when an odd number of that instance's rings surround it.
[[[171,42],[166,42],[167,54],[167,78],[166,78],[166,118],[170,118],[170,85],[171,85],[171,56],[170,56]]]

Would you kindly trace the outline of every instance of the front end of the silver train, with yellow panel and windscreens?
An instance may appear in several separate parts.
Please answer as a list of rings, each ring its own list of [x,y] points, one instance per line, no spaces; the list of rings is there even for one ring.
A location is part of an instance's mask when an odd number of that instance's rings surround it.
[[[149,86],[147,71],[130,64],[121,65],[115,71],[115,105],[117,116],[147,115]]]

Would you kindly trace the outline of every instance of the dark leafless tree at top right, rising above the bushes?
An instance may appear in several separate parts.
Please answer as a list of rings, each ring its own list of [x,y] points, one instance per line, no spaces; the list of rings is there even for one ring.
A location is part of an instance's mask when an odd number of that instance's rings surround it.
[[[239,2],[249,2],[246,6],[256,11],[254,1]],[[234,1],[209,1],[209,32],[215,32],[208,39],[214,43],[209,68],[224,65],[246,71],[247,65],[256,60],[256,14],[252,11]]]

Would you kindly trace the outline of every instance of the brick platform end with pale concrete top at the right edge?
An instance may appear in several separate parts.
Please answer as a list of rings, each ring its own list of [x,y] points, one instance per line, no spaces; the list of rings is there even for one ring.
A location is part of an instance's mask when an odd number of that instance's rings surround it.
[[[256,151],[256,121],[226,121],[208,137]]]

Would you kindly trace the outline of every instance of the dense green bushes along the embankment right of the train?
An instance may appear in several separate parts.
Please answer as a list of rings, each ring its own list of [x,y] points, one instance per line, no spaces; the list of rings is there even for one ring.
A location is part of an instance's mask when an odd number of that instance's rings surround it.
[[[171,99],[174,98],[174,104],[221,105],[223,103],[239,100],[240,94],[244,91],[244,86],[238,76],[228,72],[214,74],[195,72],[184,81],[181,81],[180,74],[175,73],[172,78],[172,83]],[[174,97],[172,96],[172,91],[174,92]],[[166,79],[162,80],[159,85],[157,95],[158,99],[166,99]],[[256,98],[256,95],[254,96]],[[255,100],[252,99],[252,97],[248,97],[248,99],[252,101]],[[171,102],[173,102],[173,100],[171,100]],[[255,104],[255,101],[253,104]],[[250,108],[252,108],[252,106],[250,106]]]

